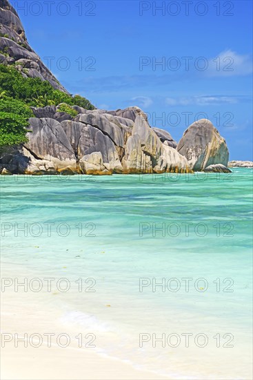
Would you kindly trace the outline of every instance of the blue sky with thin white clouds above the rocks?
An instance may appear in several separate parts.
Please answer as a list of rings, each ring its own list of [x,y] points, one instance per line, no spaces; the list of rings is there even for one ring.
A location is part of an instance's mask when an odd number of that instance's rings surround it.
[[[175,140],[208,117],[231,160],[252,160],[252,1],[11,3],[70,93],[140,106]]]

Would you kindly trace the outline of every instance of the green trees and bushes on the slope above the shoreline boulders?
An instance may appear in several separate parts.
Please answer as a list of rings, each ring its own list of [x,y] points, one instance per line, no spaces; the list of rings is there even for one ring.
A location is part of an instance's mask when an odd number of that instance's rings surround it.
[[[47,81],[25,78],[14,67],[0,64],[0,149],[27,141],[28,119],[34,116],[30,106],[59,104],[58,111],[69,113],[72,117],[77,115],[77,111],[70,106],[77,105],[90,110],[95,108],[85,97],[72,97],[55,90]]]

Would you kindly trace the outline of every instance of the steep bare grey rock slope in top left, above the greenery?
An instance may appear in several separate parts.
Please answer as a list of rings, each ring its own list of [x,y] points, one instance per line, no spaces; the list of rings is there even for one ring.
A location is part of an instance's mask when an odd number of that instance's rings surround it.
[[[47,80],[68,93],[28,44],[19,16],[7,0],[0,0],[0,61],[14,65],[23,77]]]

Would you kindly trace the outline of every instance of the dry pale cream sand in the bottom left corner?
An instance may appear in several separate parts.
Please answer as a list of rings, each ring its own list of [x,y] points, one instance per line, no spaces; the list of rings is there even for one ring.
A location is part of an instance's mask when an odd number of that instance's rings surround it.
[[[134,370],[116,359],[71,348],[2,348],[1,379],[4,380],[153,380],[165,379]]]

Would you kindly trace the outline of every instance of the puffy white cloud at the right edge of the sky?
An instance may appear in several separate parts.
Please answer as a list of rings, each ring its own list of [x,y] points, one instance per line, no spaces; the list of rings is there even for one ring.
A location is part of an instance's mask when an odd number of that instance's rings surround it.
[[[208,60],[208,77],[232,77],[252,73],[252,57],[227,49]]]

